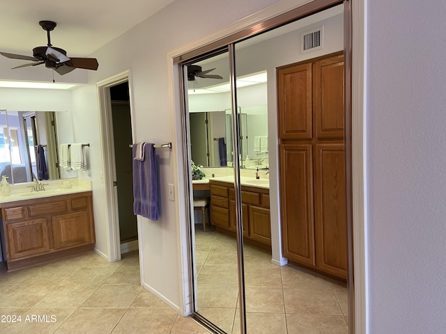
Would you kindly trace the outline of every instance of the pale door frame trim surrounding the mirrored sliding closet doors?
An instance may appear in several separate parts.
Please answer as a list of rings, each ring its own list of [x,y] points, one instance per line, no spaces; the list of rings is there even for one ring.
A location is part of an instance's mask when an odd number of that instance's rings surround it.
[[[185,159],[187,148],[183,142],[184,138],[184,124],[183,124],[183,110],[182,110],[182,94],[183,87],[178,85],[179,82],[179,70],[180,67],[175,63],[176,58],[180,58],[188,52],[200,53],[200,49],[206,45],[213,45],[215,42],[224,40],[230,35],[243,31],[245,29],[252,28],[256,24],[266,22],[266,20],[272,17],[277,17],[291,10],[305,6],[308,3],[318,3],[320,1],[306,1],[306,0],[282,0],[279,1],[264,10],[260,10],[253,15],[249,15],[245,19],[240,19],[237,22],[226,26],[224,29],[220,29],[208,35],[204,35],[197,40],[188,42],[187,44],[178,47],[167,54],[167,66],[169,73],[169,100],[171,101],[171,119],[172,122],[172,137],[174,143],[176,143],[176,166],[175,179],[178,184],[178,202],[186,203],[187,196],[187,180],[185,174],[182,171],[187,170],[187,161]],[[366,0],[346,0],[346,9],[344,10],[345,24],[344,33],[348,35],[350,43],[345,45],[346,52],[351,59],[351,221],[350,229],[351,236],[349,240],[349,269],[351,273],[354,273],[354,285],[353,278],[349,280],[351,285],[349,287],[349,315],[354,315],[353,321],[349,321],[350,333],[369,333],[369,315],[367,311],[367,303],[369,296],[367,294],[367,214],[366,208],[366,196],[365,191],[367,189],[365,178],[365,166],[367,152],[366,147],[366,129],[365,123],[365,111],[366,111],[366,73],[367,68],[367,50],[365,42],[367,40],[367,26],[364,22],[366,17]],[[183,281],[183,305],[181,310],[184,315],[190,314],[190,266],[188,265],[188,237],[187,237],[187,210],[185,205],[178,207],[179,217],[179,230],[180,234],[180,249],[178,250],[178,256],[180,262],[178,267],[182,275]]]

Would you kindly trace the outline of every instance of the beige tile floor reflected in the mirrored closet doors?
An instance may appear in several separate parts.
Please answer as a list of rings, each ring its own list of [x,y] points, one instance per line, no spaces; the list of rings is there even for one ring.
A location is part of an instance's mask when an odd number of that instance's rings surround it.
[[[198,312],[226,333],[240,333],[236,241],[196,229]],[[344,283],[287,265],[244,246],[247,333],[347,334]]]

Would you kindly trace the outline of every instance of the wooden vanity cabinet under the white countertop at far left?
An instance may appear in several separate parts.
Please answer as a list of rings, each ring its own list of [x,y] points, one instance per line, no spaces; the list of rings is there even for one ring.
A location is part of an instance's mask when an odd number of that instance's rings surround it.
[[[91,191],[1,205],[8,270],[92,250]]]

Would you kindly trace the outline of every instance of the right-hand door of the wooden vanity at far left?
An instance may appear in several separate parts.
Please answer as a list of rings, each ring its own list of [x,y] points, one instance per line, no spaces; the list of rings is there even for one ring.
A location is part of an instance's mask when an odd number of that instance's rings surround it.
[[[52,216],[54,249],[91,244],[93,236],[89,215],[85,211]]]

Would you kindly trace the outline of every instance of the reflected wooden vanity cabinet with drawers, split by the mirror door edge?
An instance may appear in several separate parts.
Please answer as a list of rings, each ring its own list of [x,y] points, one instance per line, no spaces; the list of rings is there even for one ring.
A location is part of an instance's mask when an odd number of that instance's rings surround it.
[[[236,235],[236,201],[230,182],[210,180],[210,212],[217,230]],[[241,188],[242,223],[245,242],[271,250],[269,189],[245,186]]]

